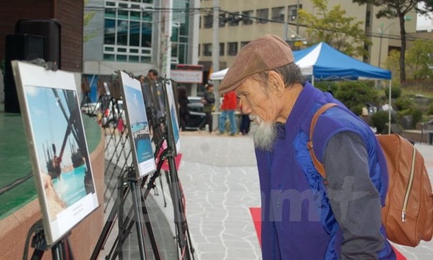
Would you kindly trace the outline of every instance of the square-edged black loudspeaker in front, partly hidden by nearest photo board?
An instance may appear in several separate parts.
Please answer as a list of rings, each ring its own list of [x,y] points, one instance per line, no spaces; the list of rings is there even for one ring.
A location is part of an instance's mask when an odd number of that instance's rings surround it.
[[[5,112],[20,113],[18,94],[11,61],[30,61],[45,57],[45,37],[31,34],[10,34],[5,41]]]

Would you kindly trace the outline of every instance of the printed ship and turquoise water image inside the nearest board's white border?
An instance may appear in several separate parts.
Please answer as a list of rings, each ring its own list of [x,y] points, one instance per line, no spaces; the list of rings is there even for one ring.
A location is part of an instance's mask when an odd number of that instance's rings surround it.
[[[49,219],[94,193],[76,91],[25,87]]]

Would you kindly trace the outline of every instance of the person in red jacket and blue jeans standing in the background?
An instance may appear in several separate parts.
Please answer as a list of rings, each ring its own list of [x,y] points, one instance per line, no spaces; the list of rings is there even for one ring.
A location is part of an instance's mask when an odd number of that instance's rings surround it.
[[[236,136],[238,129],[236,124],[236,118],[234,117],[234,111],[238,108],[238,98],[234,91],[230,91],[224,94],[223,104],[221,105],[221,115],[219,116],[219,133],[225,132],[225,120],[227,116],[230,120],[230,136]]]

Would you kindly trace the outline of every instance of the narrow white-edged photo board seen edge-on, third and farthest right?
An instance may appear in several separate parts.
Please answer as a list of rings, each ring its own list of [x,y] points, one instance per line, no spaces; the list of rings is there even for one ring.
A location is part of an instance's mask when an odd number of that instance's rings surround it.
[[[168,144],[175,148],[175,155],[180,151],[180,138],[179,138],[179,122],[177,120],[177,102],[175,101],[175,92],[171,80],[165,80],[164,92],[166,93],[166,122],[168,129]]]

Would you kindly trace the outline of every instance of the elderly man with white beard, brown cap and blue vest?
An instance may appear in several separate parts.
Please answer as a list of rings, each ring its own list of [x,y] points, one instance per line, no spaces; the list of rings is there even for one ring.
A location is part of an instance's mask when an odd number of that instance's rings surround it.
[[[245,45],[220,94],[235,91],[253,120],[262,203],[263,259],[395,259],[381,225],[388,188],[386,162],[374,133],[331,94],[304,80],[278,36]],[[307,142],[319,116],[314,153]]]

